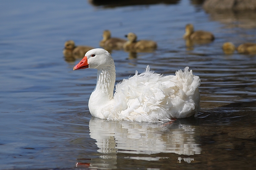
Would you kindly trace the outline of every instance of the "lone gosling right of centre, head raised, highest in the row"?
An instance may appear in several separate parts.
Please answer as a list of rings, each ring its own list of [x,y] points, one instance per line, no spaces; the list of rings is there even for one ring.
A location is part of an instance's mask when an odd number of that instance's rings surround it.
[[[212,41],[214,40],[214,35],[208,31],[194,31],[194,26],[192,24],[187,24],[185,28],[185,34],[183,35],[184,39],[190,40],[204,40]]]

